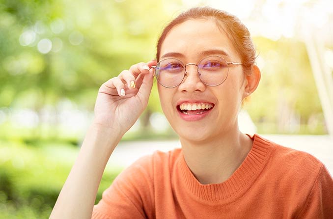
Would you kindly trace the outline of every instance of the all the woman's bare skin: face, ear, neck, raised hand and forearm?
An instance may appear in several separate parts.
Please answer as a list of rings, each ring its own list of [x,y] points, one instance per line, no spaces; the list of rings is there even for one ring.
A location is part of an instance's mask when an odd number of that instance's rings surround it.
[[[200,31],[197,31],[200,29]],[[184,63],[197,63],[200,52],[222,49],[227,61],[239,62],[231,42],[212,21],[191,20],[174,27],[165,39],[161,54],[182,53]],[[216,54],[219,55],[219,54]],[[103,83],[98,90],[94,120],[84,137],[80,153],[57,198],[50,219],[90,219],[105,166],[123,135],[147,107],[153,85],[152,60],[132,65]],[[227,80],[216,87],[203,84],[196,67],[178,87],[158,85],[162,109],[181,140],[186,163],[202,184],[225,181],[243,162],[252,141],[237,125],[242,100],[257,87],[260,71],[253,66],[250,76],[241,66],[232,66]],[[135,86],[130,86],[130,84]],[[200,98],[215,104],[202,120],[188,122],[177,114],[180,98]],[[136,109],[136,110],[133,110]],[[82,192],[84,191],[84,192]]]

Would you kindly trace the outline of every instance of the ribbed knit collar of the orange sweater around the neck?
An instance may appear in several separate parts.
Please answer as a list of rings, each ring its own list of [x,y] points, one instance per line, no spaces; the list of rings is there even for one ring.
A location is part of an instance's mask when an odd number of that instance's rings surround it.
[[[180,182],[195,199],[209,203],[232,202],[246,192],[267,164],[273,150],[272,143],[255,134],[252,148],[243,163],[229,179],[219,184],[201,184],[193,175],[181,152],[177,165]],[[213,204],[212,203],[212,204]]]

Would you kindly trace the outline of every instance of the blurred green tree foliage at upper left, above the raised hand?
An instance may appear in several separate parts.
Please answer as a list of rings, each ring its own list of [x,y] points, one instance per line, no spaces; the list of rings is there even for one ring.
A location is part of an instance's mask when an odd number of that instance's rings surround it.
[[[103,82],[154,58],[151,45],[166,20],[161,11],[150,9],[158,4],[1,0],[0,106],[39,110],[66,97],[92,110]],[[35,39],[22,46],[19,40],[27,31]],[[82,43],[71,43],[73,34],[82,36]],[[60,42],[60,49],[40,53],[41,39],[53,46]]]

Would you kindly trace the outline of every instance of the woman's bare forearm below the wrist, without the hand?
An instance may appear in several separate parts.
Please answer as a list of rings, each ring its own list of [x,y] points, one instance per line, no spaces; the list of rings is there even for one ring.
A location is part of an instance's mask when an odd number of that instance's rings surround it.
[[[90,126],[50,219],[91,218],[105,166],[120,138],[114,130]]]

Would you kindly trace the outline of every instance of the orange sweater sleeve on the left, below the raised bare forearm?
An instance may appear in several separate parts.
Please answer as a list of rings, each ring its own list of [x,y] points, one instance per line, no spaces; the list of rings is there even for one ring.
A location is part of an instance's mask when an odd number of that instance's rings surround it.
[[[123,170],[94,206],[92,219],[145,219],[154,214],[152,156]]]

